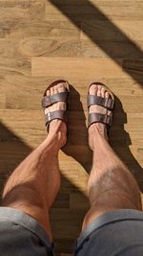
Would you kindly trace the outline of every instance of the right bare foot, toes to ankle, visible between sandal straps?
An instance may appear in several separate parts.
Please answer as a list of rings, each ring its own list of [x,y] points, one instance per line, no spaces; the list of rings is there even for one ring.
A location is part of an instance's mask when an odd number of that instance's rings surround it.
[[[110,94],[106,91],[106,88],[103,85],[92,84],[89,92],[91,95],[99,96],[102,98],[110,97]],[[110,115],[111,111],[100,105],[91,105],[90,113],[101,113]],[[108,140],[106,125],[102,123],[94,123],[89,128],[89,146],[91,149],[94,149],[94,147],[96,146],[96,136],[98,134]]]

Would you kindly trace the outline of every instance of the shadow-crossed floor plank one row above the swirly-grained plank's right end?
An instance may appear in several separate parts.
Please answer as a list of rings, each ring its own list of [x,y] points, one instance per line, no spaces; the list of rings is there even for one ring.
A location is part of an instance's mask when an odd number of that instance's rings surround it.
[[[90,20],[81,23],[81,39],[87,39],[89,36],[93,40],[122,41],[130,42],[143,40],[142,33],[143,21],[123,21],[116,20],[114,25],[110,21]],[[119,28],[119,29],[118,29]],[[106,33],[105,33],[106,32]],[[86,35],[87,34],[87,35]],[[129,40],[127,39],[129,38]]]

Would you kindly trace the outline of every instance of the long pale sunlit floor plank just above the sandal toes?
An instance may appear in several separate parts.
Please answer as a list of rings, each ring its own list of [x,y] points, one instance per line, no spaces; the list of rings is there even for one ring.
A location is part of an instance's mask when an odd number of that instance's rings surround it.
[[[122,59],[118,59],[117,65],[109,58],[31,58],[32,76],[61,76],[64,77],[90,77],[94,78],[95,73],[98,77],[107,78],[127,77],[122,71]]]

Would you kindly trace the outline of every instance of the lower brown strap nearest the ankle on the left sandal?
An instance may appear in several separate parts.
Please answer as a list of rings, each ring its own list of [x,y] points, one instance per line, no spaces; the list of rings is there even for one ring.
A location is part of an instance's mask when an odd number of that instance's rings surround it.
[[[50,123],[54,119],[60,119],[66,124],[68,122],[68,113],[65,110],[56,110],[45,114],[45,123],[49,127]]]

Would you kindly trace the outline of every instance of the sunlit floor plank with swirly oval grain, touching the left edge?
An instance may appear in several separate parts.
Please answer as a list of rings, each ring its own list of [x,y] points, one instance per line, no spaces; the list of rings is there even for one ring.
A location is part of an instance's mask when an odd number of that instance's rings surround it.
[[[75,39],[47,39],[46,36],[38,35],[28,36],[21,40],[19,38],[1,38],[0,54],[1,58],[80,57],[81,43]]]

